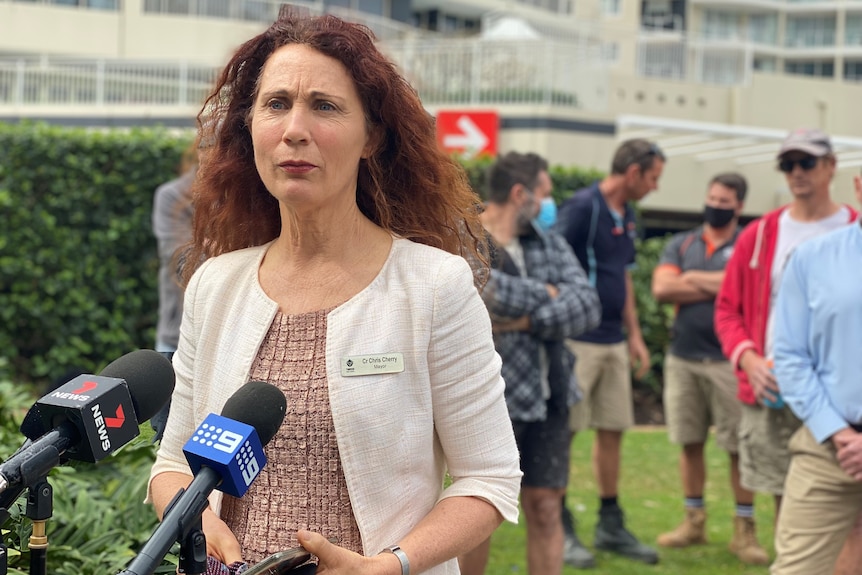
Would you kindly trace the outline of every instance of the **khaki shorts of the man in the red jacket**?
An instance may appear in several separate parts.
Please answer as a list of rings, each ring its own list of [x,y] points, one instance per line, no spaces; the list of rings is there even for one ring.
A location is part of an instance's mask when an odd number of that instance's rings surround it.
[[[790,467],[790,436],[802,425],[790,408],[742,404],[739,420],[739,479],[749,491],[784,493]]]

